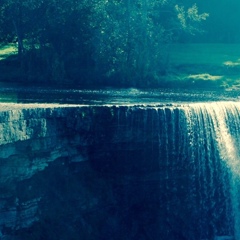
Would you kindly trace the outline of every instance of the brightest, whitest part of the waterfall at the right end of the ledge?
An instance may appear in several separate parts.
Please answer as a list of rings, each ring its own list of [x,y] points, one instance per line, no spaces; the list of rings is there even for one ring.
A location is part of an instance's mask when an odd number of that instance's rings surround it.
[[[192,155],[194,160],[200,161],[203,174],[208,180],[204,179],[203,184],[209,185],[210,192],[208,197],[215,204],[216,185],[214,183],[214,174],[219,171],[216,164],[224,164],[222,169],[221,181],[223,184],[223,194],[225,200],[230,194],[230,202],[226,201],[226,217],[222,222],[228,225],[227,232],[233,232],[234,239],[240,239],[240,195],[239,195],[239,177],[240,177],[240,149],[239,149],[239,130],[240,130],[240,104],[233,102],[216,102],[207,104],[191,104],[186,110],[187,122],[190,135],[195,142],[193,150],[197,148],[201,155]],[[195,126],[194,126],[195,125]],[[203,147],[203,145],[205,145]],[[214,163],[216,154],[219,155],[223,163]],[[212,155],[212,156],[211,156]],[[205,164],[208,161],[208,172]],[[226,179],[227,177],[227,179]],[[226,186],[227,184],[227,186]],[[228,187],[230,189],[228,189]],[[228,206],[228,205],[231,206]],[[213,206],[214,207],[214,206]],[[215,206],[216,207],[216,206]],[[231,209],[231,211],[230,211]],[[216,216],[219,216],[222,209],[216,209]],[[211,219],[209,219],[211,221]],[[207,221],[207,219],[206,219]],[[233,222],[232,230],[231,223]],[[210,222],[209,222],[210,223]],[[214,235],[219,234],[214,229]],[[223,234],[223,233],[220,233]]]

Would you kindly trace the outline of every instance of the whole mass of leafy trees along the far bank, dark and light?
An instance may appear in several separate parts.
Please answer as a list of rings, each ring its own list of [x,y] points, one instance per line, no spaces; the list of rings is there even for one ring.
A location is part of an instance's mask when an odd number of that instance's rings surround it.
[[[1,0],[0,42],[18,45],[24,81],[148,86],[167,73],[169,44],[199,33],[207,10],[166,0]]]

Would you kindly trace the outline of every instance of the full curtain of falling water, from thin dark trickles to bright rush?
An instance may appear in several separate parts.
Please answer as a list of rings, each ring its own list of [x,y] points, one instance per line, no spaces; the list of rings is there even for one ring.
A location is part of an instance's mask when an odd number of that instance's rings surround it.
[[[120,107],[117,115],[118,128],[126,127],[118,133],[128,134],[122,141],[133,145],[138,139],[142,158],[149,165],[159,161],[164,236],[240,239],[240,104]],[[175,212],[182,214],[180,220]],[[189,226],[178,230],[178,221]],[[171,235],[174,231],[185,233]]]

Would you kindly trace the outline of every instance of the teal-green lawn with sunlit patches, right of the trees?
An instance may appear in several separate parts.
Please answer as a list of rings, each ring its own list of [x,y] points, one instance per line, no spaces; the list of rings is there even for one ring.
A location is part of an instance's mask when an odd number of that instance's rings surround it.
[[[240,89],[240,44],[174,44],[170,66],[177,81]]]

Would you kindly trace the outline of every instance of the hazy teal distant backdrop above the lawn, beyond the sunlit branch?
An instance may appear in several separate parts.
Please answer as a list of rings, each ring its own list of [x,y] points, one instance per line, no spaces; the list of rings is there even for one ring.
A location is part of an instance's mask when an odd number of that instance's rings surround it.
[[[183,42],[240,43],[240,1],[239,0],[181,0],[190,6],[197,3],[199,11],[209,13],[204,24],[204,33],[198,36],[183,34]]]

